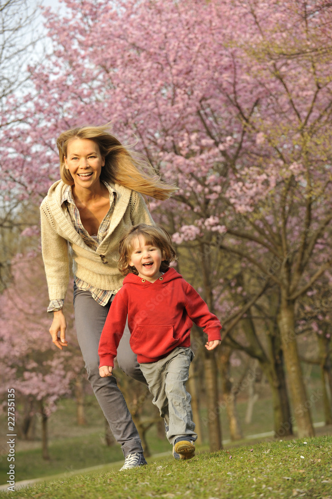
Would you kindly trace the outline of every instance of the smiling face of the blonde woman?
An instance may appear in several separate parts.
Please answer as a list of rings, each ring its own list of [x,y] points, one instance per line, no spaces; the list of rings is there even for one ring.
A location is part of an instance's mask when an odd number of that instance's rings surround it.
[[[99,146],[93,140],[73,139],[68,144],[64,164],[73,178],[75,188],[93,189],[99,186],[105,158],[101,156]]]

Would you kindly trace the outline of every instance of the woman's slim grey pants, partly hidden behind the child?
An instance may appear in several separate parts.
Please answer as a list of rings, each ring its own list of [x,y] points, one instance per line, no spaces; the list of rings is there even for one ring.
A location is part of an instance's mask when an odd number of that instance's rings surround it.
[[[88,380],[114,438],[121,444],[121,449],[126,457],[132,452],[143,452],[141,440],[115,377],[102,378],[99,375],[99,338],[110,305],[111,300],[104,307],[99,305],[89,291],[81,291],[74,286],[77,339],[85,362]],[[119,367],[126,374],[146,385],[137,357],[130,348],[129,338],[130,332],[126,325],[117,351]]]

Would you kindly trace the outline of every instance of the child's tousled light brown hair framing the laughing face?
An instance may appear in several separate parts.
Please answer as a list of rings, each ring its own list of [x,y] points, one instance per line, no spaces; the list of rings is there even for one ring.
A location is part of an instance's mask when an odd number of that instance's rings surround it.
[[[166,229],[155,225],[138,224],[131,227],[120,240],[118,268],[121,274],[127,275],[129,272],[138,274],[136,268],[129,265],[130,255],[134,250],[133,242],[136,238],[142,238],[146,245],[156,246],[161,250],[162,257],[165,258],[160,265],[161,272],[165,272],[171,261],[177,259],[171,237]]]

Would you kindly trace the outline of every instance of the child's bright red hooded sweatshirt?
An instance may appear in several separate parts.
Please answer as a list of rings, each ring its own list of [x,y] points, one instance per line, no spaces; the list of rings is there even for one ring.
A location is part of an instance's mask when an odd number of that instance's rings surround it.
[[[130,346],[138,362],[156,362],[178,346],[190,346],[190,328],[220,340],[221,324],[198,292],[174,268],[155,282],[128,274],[108,312],[99,342],[99,366],[114,366],[128,315]]]

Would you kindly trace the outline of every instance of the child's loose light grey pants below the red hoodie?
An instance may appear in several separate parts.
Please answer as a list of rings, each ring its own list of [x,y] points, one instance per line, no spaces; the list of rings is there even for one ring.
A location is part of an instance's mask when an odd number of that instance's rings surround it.
[[[153,395],[153,403],[165,420],[166,436],[174,445],[177,437],[197,439],[191,410],[191,396],[186,390],[190,362],[194,353],[190,348],[177,347],[167,357],[140,364],[140,368]]]

